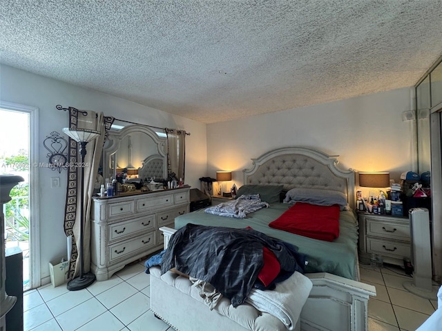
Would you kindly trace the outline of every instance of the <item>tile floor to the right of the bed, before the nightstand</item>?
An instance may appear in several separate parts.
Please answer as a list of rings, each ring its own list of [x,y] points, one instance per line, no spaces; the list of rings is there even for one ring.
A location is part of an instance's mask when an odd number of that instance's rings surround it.
[[[401,268],[360,265],[361,282],[376,287],[376,297],[368,301],[369,331],[414,331],[437,309],[437,300],[417,297],[403,288],[412,281]],[[438,285],[434,285],[438,289]]]

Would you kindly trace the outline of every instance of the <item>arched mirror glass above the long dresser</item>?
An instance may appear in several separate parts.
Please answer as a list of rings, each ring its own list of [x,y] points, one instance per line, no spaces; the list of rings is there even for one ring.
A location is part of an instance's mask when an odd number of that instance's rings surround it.
[[[158,131],[158,132],[157,132]],[[103,177],[163,181],[167,176],[167,139],[162,130],[115,120],[103,149]]]

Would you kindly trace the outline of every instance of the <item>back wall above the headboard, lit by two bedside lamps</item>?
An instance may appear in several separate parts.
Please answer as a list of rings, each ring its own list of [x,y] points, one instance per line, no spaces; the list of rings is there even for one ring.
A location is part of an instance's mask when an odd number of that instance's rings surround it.
[[[403,88],[209,124],[207,175],[231,170],[239,187],[251,158],[274,148],[305,146],[340,155],[345,169],[389,171],[398,181],[416,165],[416,123],[402,119],[403,112],[413,109],[411,100],[410,88]]]

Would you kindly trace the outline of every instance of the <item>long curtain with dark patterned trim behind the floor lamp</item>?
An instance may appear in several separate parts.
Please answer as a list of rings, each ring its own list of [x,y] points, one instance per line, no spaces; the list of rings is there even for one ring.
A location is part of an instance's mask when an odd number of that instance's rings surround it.
[[[85,128],[101,132],[100,136],[86,145],[86,156],[84,157],[84,192],[80,192],[77,188],[81,188],[79,177],[81,176],[81,168],[75,166],[79,163],[80,155],[78,151],[78,144],[75,140],[68,141],[69,152],[68,160],[73,164],[68,168],[68,189],[66,193],[66,207],[64,231],[66,236],[72,236],[72,254],[69,264],[69,279],[73,279],[79,274],[79,260],[77,243],[79,244],[80,235],[80,220],[81,215],[77,210],[80,210],[81,197],[84,199],[84,239],[83,239],[83,259],[84,272],[90,270],[90,206],[92,205],[92,195],[95,185],[95,180],[99,168],[99,163],[102,158],[102,151],[104,141],[107,136],[107,131],[111,128],[113,117],[104,117],[103,113],[96,113],[88,110],[87,112],[77,110],[69,107],[69,127],[70,128]]]

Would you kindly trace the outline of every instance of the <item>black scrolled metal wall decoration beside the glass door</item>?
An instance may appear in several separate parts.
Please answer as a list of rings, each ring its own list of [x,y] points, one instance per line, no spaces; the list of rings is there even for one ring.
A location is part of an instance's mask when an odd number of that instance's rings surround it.
[[[48,168],[52,171],[68,168],[68,141],[60,136],[59,132],[52,131],[43,141],[43,146],[48,150],[46,157],[49,159]]]

